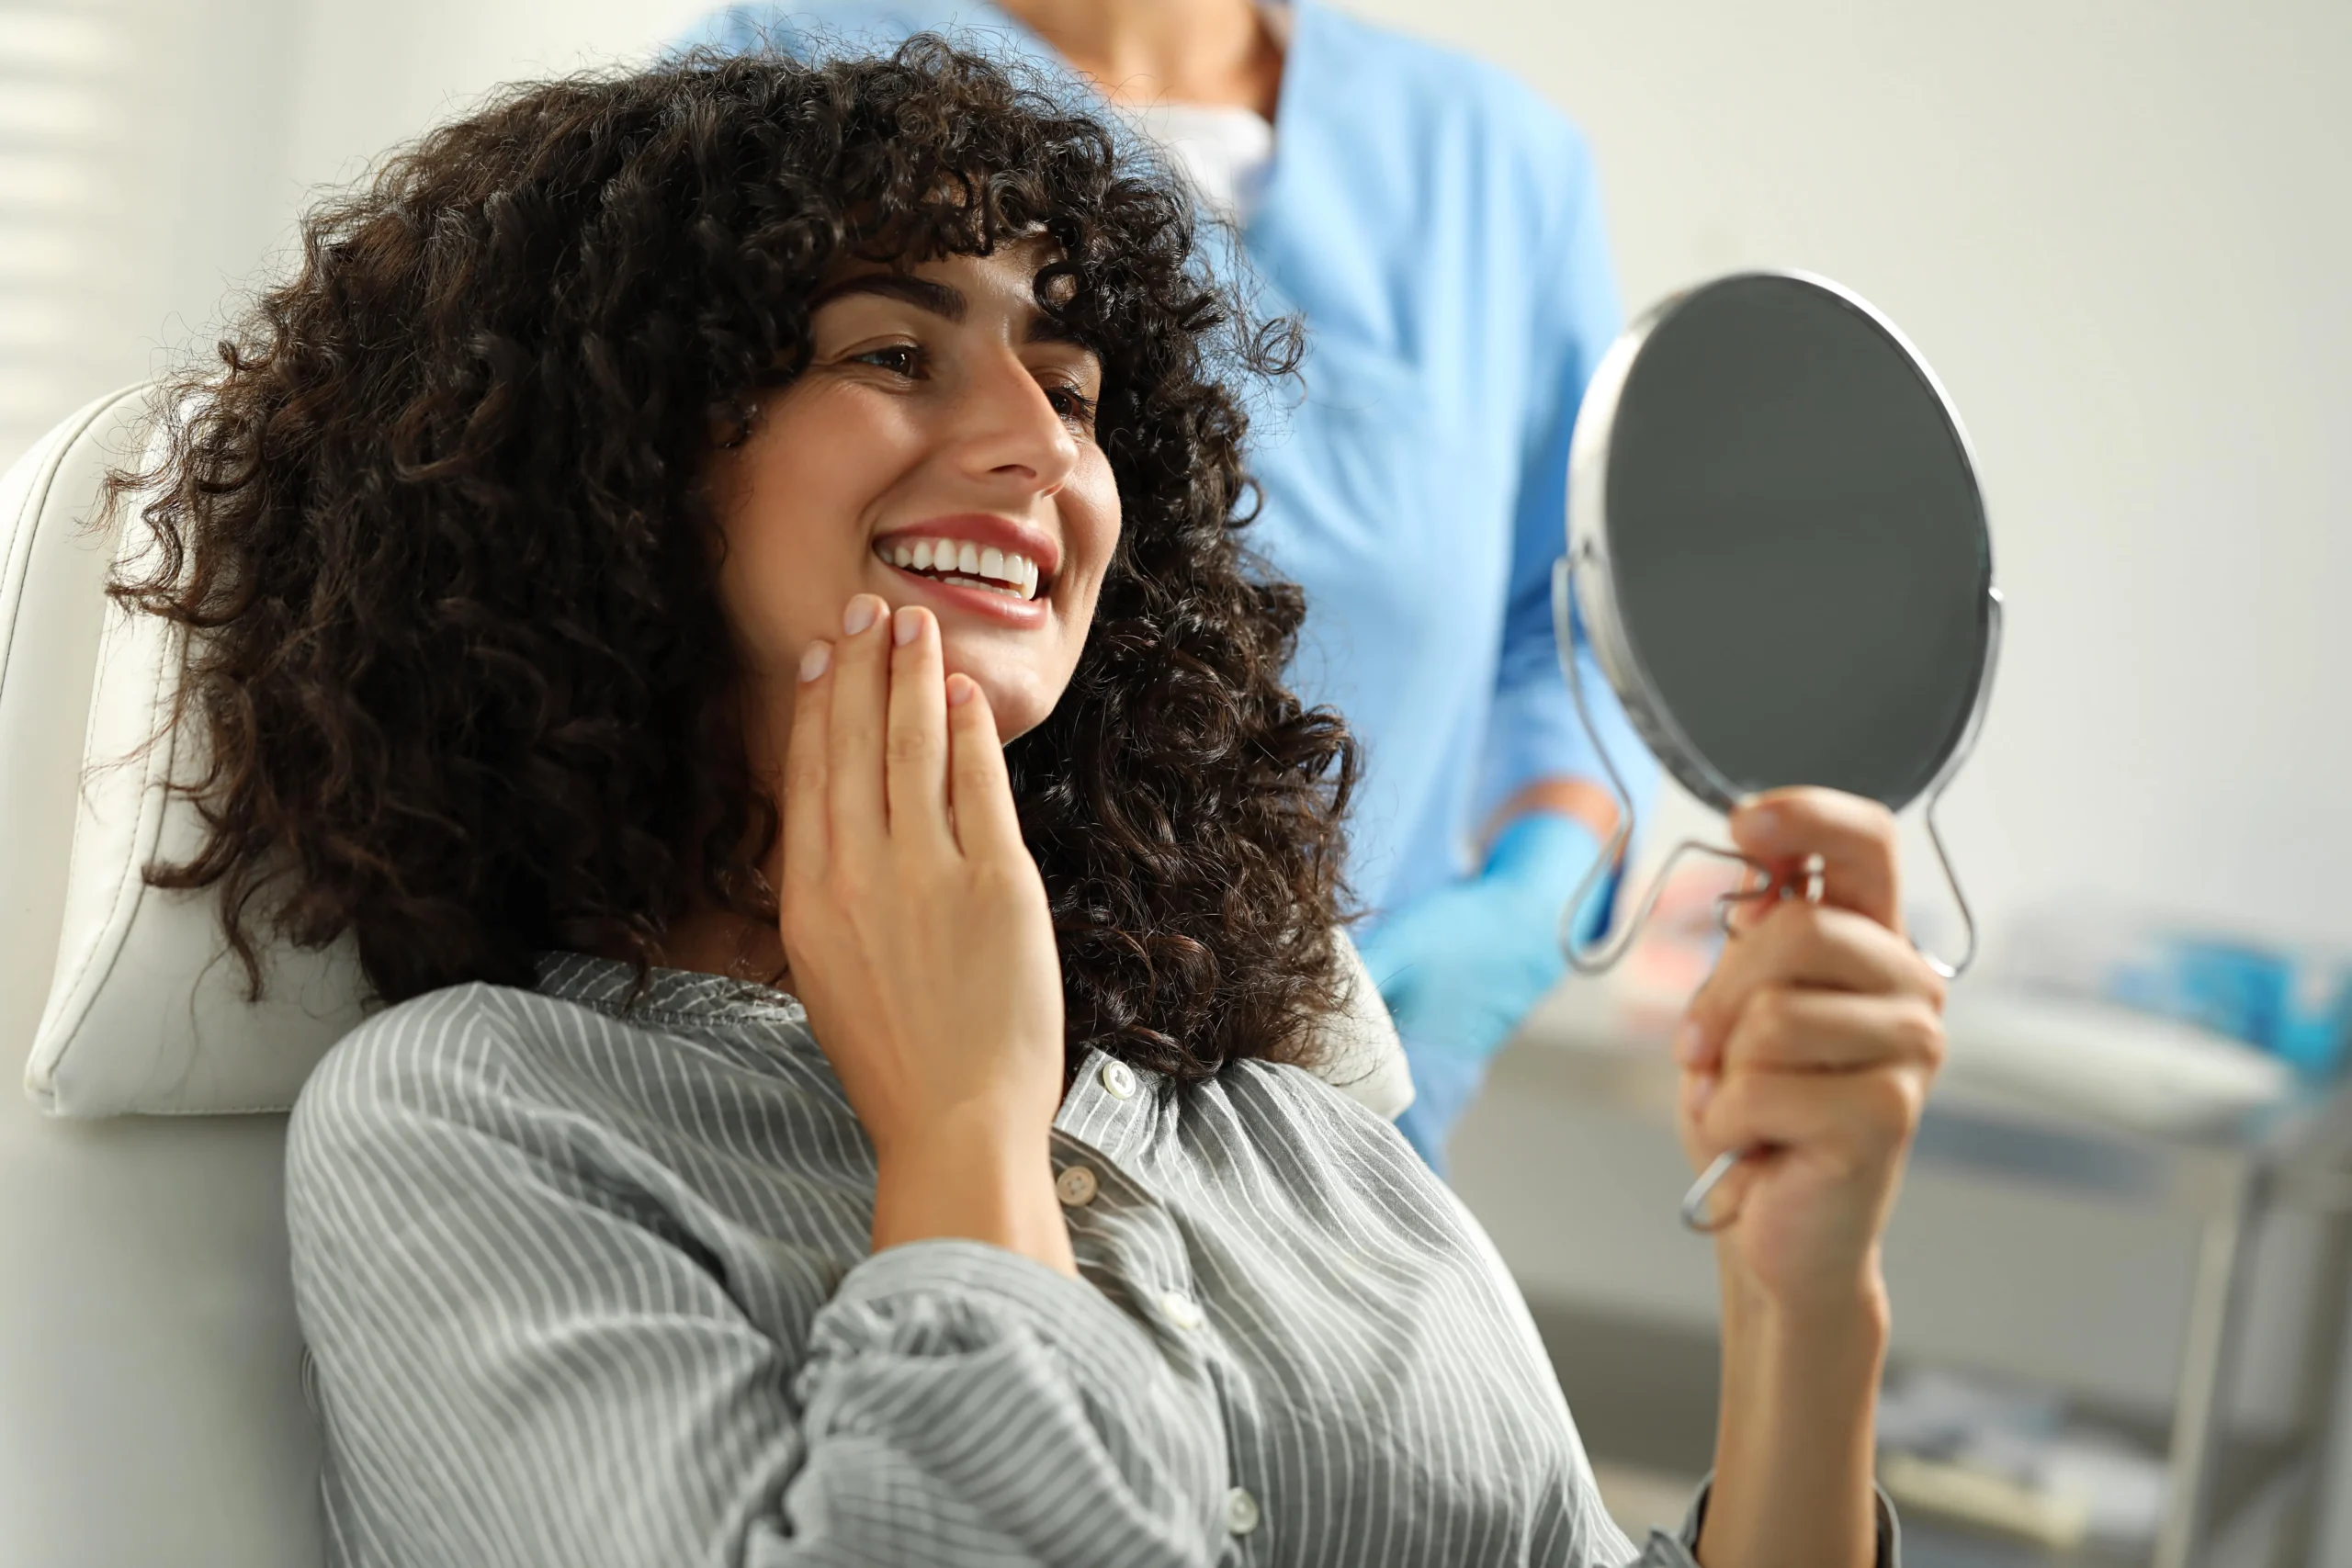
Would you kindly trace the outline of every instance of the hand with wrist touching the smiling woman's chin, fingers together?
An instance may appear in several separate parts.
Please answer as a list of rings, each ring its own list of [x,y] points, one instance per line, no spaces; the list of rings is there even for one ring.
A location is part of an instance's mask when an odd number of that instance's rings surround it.
[[[875,1145],[873,1246],[993,1241],[1075,1274],[1049,1131],[1061,959],[988,698],[938,623],[849,602],[786,752],[781,936]]]

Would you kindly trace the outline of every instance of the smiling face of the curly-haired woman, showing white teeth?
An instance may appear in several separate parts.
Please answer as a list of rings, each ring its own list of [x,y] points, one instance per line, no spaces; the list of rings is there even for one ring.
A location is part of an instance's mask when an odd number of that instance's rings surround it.
[[[1120,494],[1094,444],[1103,367],[1035,303],[1051,256],[851,266],[818,292],[809,369],[713,475],[720,595],[769,693],[875,592],[938,616],[948,670],[988,691],[1007,741],[1054,710]]]

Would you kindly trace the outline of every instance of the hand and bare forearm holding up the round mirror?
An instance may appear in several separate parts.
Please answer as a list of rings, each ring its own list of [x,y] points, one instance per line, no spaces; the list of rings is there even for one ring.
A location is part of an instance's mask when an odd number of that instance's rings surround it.
[[[1715,1190],[1724,1295],[1708,1568],[1875,1556],[1872,1410],[1886,1347],[1879,1237],[1929,1081],[1943,980],[1903,936],[1893,816],[1778,790],[1731,818],[1745,856],[1820,903],[1740,905],[1677,1039],[1693,1166],[1759,1150]]]

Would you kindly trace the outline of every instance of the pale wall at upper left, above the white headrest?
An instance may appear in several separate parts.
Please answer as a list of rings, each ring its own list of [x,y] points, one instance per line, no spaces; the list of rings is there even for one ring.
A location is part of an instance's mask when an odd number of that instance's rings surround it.
[[[0,0],[0,463],[82,400],[209,353],[313,186],[487,87],[642,56],[703,9]]]

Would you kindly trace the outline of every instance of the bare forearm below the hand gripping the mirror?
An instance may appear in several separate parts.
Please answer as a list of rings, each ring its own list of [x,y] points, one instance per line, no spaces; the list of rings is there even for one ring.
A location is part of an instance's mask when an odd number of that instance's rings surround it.
[[[1790,1307],[1724,1258],[1724,1378],[1705,1568],[1867,1568],[1877,1559],[1872,1448],[1886,1291]]]

